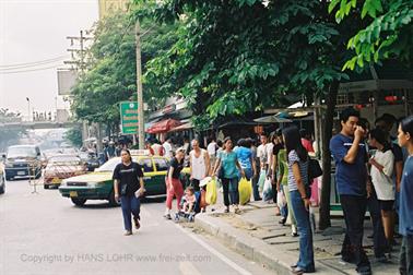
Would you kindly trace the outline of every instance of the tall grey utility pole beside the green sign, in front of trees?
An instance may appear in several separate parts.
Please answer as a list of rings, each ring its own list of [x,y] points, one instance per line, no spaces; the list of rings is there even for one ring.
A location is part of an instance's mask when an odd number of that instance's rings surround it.
[[[143,94],[142,94],[142,57],[141,57],[141,26],[139,20],[135,24],[137,39],[137,92],[138,92],[138,142],[139,148],[144,148],[145,129],[143,118]]]

